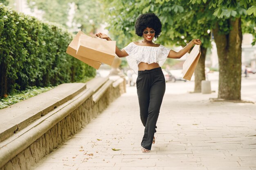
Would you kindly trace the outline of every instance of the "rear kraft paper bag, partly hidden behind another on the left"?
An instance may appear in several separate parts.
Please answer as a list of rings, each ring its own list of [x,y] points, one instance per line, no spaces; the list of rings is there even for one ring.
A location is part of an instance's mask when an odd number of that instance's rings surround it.
[[[68,45],[66,53],[68,53],[72,57],[75,57],[78,60],[84,62],[85,64],[88,64],[89,66],[92,66],[93,68],[99,69],[99,67],[101,66],[101,62],[97,62],[97,61],[94,61],[94,60],[91,60],[91,59],[88,59],[88,58],[85,58],[85,57],[82,57],[82,56],[76,54],[76,49],[77,49],[77,46],[78,46],[79,37],[80,37],[80,35],[83,35],[83,34],[84,33],[82,31],[79,31],[76,34],[74,39]]]

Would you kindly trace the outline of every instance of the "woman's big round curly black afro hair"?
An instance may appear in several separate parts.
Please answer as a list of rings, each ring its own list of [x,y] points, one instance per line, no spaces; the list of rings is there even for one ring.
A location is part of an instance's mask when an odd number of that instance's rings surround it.
[[[155,38],[159,37],[162,31],[162,24],[155,13],[145,13],[139,15],[135,23],[135,33],[141,37],[146,27],[153,28],[155,30]]]

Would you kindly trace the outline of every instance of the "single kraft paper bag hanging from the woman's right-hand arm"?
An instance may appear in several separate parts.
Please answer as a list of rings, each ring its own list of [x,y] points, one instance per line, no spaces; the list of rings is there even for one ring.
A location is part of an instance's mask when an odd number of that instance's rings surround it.
[[[191,80],[191,77],[195,71],[195,67],[198,64],[198,60],[201,55],[200,45],[195,45],[186,61],[183,63],[183,78]]]

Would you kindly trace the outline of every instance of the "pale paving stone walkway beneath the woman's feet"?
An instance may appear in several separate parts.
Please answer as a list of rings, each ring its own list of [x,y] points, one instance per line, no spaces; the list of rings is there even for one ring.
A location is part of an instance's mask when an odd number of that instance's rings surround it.
[[[187,91],[193,82],[166,83],[150,153],[141,152],[136,88],[127,87],[34,170],[256,170],[256,104],[210,102],[217,93]]]

